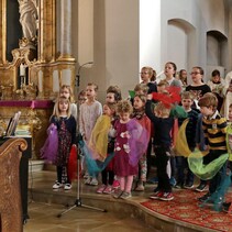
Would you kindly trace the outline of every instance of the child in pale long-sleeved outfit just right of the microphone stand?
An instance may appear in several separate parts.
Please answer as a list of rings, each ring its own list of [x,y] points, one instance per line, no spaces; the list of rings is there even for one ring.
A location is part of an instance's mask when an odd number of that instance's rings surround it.
[[[91,135],[91,131],[98,120],[98,118],[102,114],[102,106],[99,101],[96,100],[98,91],[98,86],[96,84],[88,84],[86,88],[86,97],[87,100],[80,106],[80,114],[79,114],[79,132],[82,136],[82,140],[88,144],[88,141]],[[98,180],[96,176],[89,177],[88,173],[86,173],[87,180],[86,185],[97,186]]]

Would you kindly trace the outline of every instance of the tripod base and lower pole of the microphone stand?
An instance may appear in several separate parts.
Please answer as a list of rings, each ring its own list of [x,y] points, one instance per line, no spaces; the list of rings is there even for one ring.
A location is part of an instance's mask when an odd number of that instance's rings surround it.
[[[80,155],[81,154],[77,154],[77,199],[75,200],[74,206],[69,207],[67,210],[60,212],[57,214],[57,218],[60,218],[62,216],[64,216],[65,213],[69,212],[70,210],[73,210],[76,207],[82,207],[86,209],[92,209],[92,210],[97,210],[97,211],[101,211],[101,212],[107,212],[106,209],[100,209],[100,208],[96,208],[96,207],[90,207],[87,205],[82,205],[81,202],[81,198],[80,198],[80,170],[79,170],[79,164],[80,164]]]

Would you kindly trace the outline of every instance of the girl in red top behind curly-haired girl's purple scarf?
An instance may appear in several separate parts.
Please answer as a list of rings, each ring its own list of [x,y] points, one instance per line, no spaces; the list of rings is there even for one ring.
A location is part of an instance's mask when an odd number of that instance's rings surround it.
[[[133,114],[132,117],[147,131],[147,137],[151,136],[151,121],[145,114],[145,103],[146,96],[145,95],[135,95],[134,104],[133,104]],[[142,155],[139,162],[139,178],[135,187],[135,191],[143,191],[144,184],[146,181],[147,174],[147,162],[146,162],[146,153]]]

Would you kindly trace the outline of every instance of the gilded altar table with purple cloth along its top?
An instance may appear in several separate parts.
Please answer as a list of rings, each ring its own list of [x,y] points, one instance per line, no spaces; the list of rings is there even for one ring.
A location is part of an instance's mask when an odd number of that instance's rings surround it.
[[[32,135],[32,158],[40,158],[40,150],[46,140],[46,129],[53,113],[52,100],[0,100],[0,118],[4,126],[15,112],[21,111],[18,128]]]

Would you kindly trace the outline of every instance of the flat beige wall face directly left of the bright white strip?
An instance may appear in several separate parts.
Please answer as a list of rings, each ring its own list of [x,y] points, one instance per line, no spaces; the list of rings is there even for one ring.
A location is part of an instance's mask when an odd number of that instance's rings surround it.
[[[139,1],[106,1],[106,75],[123,97],[139,82]]]

